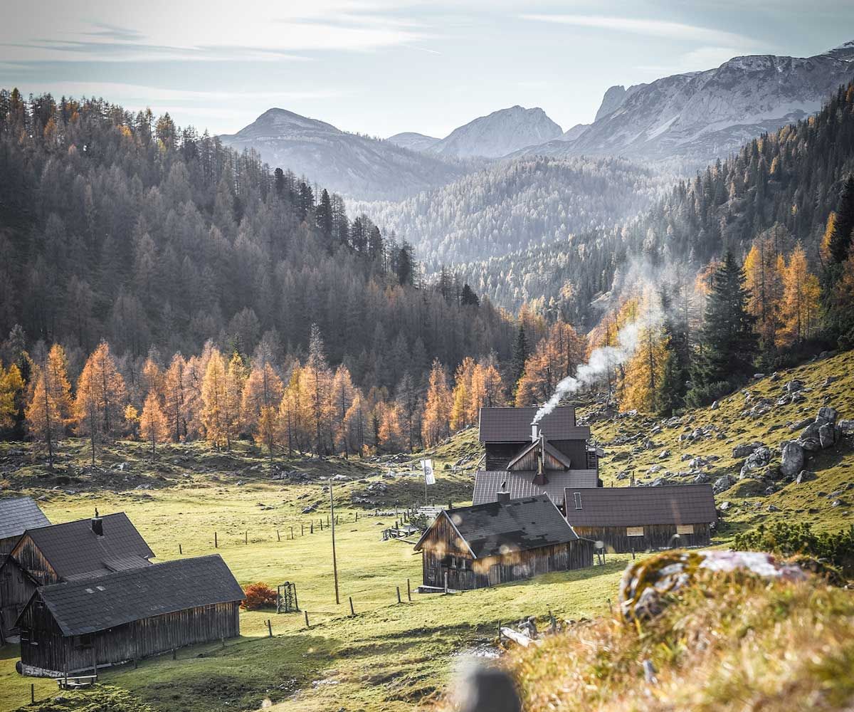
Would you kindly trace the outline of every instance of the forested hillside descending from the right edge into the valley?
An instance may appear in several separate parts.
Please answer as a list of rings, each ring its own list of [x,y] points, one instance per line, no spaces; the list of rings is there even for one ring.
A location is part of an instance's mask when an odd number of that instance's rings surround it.
[[[730,248],[746,255],[763,232],[785,253],[800,240],[813,269],[841,184],[854,169],[854,90],[840,89],[822,111],[746,144],[691,181],[676,185],[638,218],[545,246],[460,268],[461,278],[515,309],[541,297],[592,326],[590,303],[619,292],[631,267],[679,266],[694,273]]]

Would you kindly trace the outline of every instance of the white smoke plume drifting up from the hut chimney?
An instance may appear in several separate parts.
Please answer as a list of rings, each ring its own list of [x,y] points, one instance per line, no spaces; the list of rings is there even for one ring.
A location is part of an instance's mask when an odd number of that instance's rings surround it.
[[[574,393],[583,385],[592,385],[609,369],[629,361],[634,356],[640,341],[640,332],[644,329],[656,329],[664,322],[664,314],[657,298],[650,298],[640,319],[626,324],[617,332],[617,346],[600,346],[590,352],[587,363],[576,369],[574,376],[567,376],[560,381],[552,397],[544,403],[534,416],[538,423],[551,413],[564,397]]]

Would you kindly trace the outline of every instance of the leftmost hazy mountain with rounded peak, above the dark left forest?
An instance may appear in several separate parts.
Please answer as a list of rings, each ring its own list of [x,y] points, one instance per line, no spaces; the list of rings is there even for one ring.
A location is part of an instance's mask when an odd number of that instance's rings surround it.
[[[237,150],[257,150],[272,168],[290,168],[354,197],[406,197],[462,173],[436,156],[343,132],[285,109],[269,109],[248,127],[219,138]]]

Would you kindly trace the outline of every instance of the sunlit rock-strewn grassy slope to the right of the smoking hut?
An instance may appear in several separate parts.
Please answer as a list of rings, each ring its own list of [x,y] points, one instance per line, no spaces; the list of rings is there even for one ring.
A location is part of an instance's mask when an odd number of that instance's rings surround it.
[[[827,387],[822,387],[828,376],[837,376],[839,380]],[[747,402],[742,391],[722,399],[717,410],[711,408],[696,409],[676,427],[662,427],[661,432],[650,434],[653,427],[662,424],[659,418],[648,418],[642,415],[625,417],[616,421],[597,421],[592,424],[594,436],[605,446],[608,456],[601,462],[602,478],[605,485],[625,486],[629,480],[616,480],[618,472],[634,468],[637,480],[651,482],[664,474],[684,472],[689,469],[688,462],[681,461],[682,454],[695,456],[720,456],[720,460],[712,463],[712,468],[706,470],[711,481],[722,474],[731,474],[738,478],[740,468],[744,464],[743,457],[734,458],[733,448],[736,444],[760,441],[776,451],[772,466],[779,465],[779,444],[798,436],[798,432],[790,432],[789,423],[813,419],[816,411],[823,405],[832,405],[839,411],[839,418],[854,418],[854,351],[846,351],[839,356],[807,363],[798,368],[790,368],[780,372],[780,380],[772,382],[769,377],[754,380],[746,386],[753,400],[767,397],[776,401],[782,385],[787,380],[799,379],[811,388],[804,393],[803,403],[792,403],[785,406],[774,405],[770,413],[754,420],[746,411],[751,409],[752,402]],[[583,415],[585,409],[581,410]],[[679,442],[682,432],[714,424],[727,436],[725,439],[706,438],[693,443]],[[617,436],[634,436],[642,433],[655,443],[649,450],[643,449],[640,443],[612,444]],[[670,450],[670,456],[659,455],[664,450]],[[630,453],[629,459],[617,459],[617,453]],[[661,465],[662,472],[646,474],[652,465]],[[835,530],[851,524],[851,510],[854,504],[854,491],[845,492],[841,498],[847,506],[832,506],[837,497],[827,495],[834,491],[844,491],[851,484],[854,488],[854,457],[852,457],[851,441],[839,444],[828,450],[816,453],[804,466],[816,474],[815,480],[797,484],[784,484],[774,494],[765,496],[764,487],[757,480],[740,480],[728,491],[716,497],[717,503],[728,501],[734,505],[722,522],[719,534],[724,539],[731,538],[735,532],[757,526],[761,522],[778,519],[788,519],[797,515],[798,521],[810,521],[816,530]],[[674,480],[691,482],[690,477],[674,477]],[[780,509],[779,512],[769,511],[769,506]]]

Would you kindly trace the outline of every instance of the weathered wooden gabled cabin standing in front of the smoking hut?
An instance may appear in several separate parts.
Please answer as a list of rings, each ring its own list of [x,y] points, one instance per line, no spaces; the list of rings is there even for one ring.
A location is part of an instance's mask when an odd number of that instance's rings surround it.
[[[593,542],[579,538],[547,495],[443,510],[415,545],[424,586],[468,591],[593,565]]]

